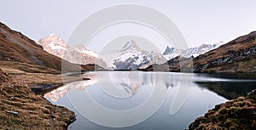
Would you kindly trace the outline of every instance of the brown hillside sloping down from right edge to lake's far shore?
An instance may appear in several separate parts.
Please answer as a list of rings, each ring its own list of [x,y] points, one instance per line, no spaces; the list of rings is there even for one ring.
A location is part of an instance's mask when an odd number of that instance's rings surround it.
[[[197,57],[177,56],[142,71],[256,72],[256,31],[227,42]]]

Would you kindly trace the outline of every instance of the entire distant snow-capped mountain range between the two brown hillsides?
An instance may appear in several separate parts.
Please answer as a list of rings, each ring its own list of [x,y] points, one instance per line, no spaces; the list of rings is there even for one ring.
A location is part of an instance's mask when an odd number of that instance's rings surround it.
[[[62,59],[67,59],[75,64],[98,64],[110,70],[137,70],[147,68],[149,65],[164,64],[167,60],[177,56],[188,58],[204,54],[214,48],[218,48],[224,42],[215,44],[202,44],[197,48],[177,49],[167,47],[163,54],[157,50],[146,50],[138,46],[134,40],[125,43],[123,48],[109,52],[108,54],[97,54],[84,48],[82,45],[69,47],[60,37],[50,34],[38,41],[45,51]]]

